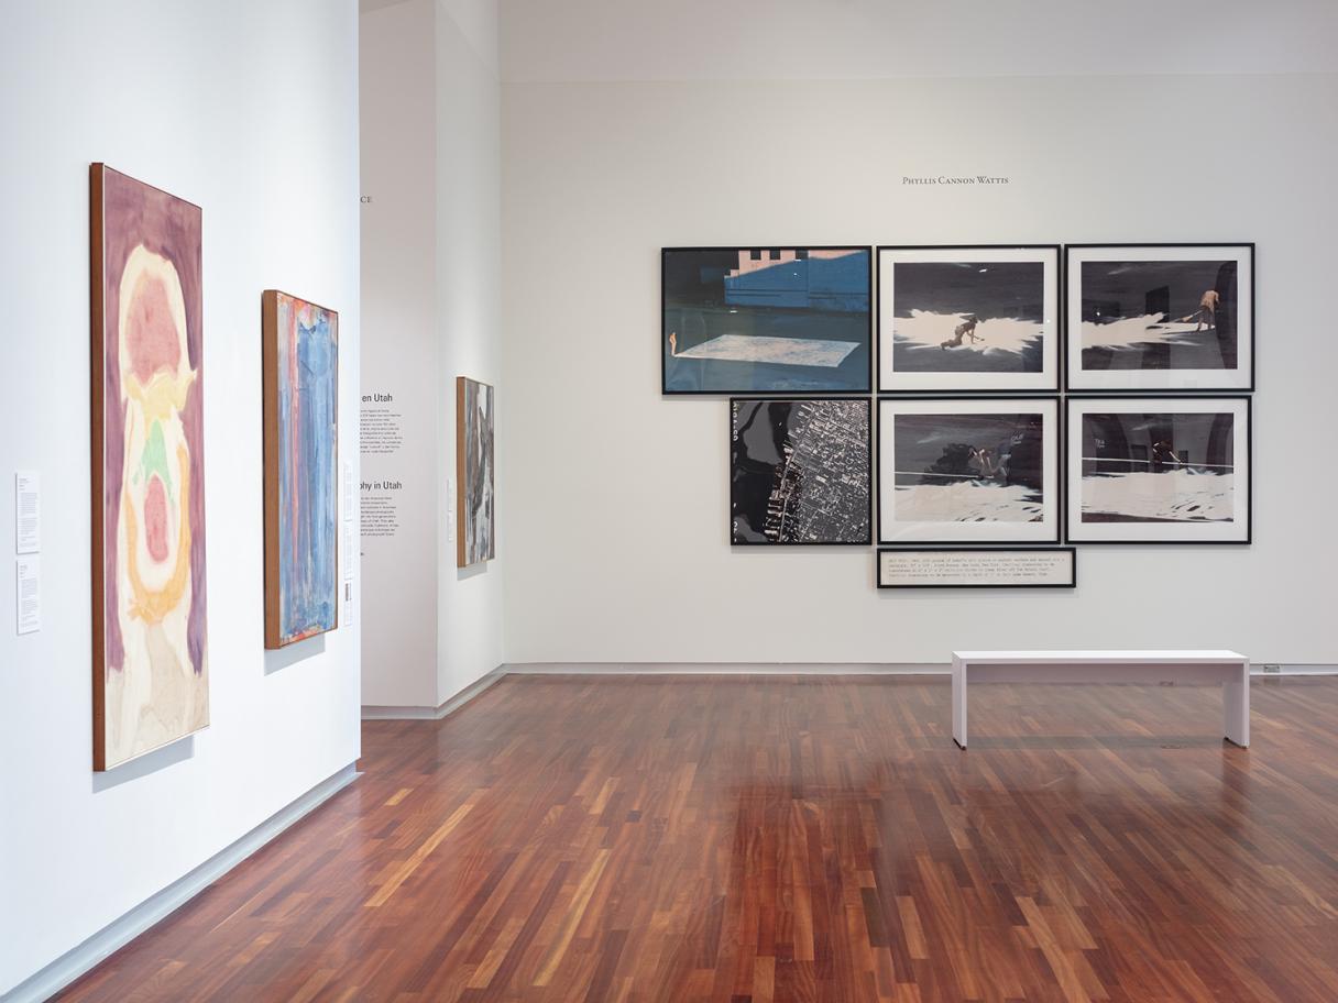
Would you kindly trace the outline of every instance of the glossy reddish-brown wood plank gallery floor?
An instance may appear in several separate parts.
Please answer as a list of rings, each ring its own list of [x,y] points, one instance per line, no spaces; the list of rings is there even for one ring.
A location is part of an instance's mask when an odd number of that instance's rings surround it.
[[[1338,678],[508,677],[67,1000],[1338,1000]]]

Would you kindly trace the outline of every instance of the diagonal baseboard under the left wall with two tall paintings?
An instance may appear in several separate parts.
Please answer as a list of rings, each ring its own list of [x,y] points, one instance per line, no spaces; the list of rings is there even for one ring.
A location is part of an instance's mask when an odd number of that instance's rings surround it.
[[[107,924],[82,944],[40,968],[8,992],[0,994],[0,1003],[39,1003],[39,1000],[55,995],[155,923],[161,923],[179,909],[252,853],[284,832],[284,829],[347,788],[361,774],[357,772],[356,764],[351,762],[334,776],[322,780],[286,808],[272,814],[240,840],[219,851],[183,877],[177,879],[120,919]]]

